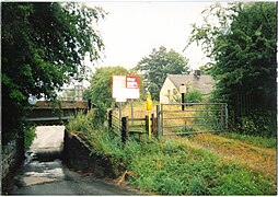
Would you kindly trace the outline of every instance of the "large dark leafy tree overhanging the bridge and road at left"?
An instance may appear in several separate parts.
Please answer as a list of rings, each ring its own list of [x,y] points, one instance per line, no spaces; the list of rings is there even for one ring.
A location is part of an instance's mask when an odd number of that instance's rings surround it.
[[[3,141],[21,130],[30,94],[55,97],[70,78],[82,79],[84,57],[104,45],[93,25],[105,12],[80,3],[2,2]],[[9,135],[10,134],[10,135]]]

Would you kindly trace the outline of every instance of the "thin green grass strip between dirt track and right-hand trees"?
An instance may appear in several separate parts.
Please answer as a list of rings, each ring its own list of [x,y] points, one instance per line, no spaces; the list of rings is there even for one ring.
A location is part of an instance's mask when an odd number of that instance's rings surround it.
[[[219,132],[218,135],[222,137],[227,137],[227,138],[239,139],[239,140],[242,140],[247,143],[252,143],[262,148],[273,148],[273,149],[277,148],[276,138],[265,138],[265,137],[258,137],[258,136],[241,135],[236,132]]]

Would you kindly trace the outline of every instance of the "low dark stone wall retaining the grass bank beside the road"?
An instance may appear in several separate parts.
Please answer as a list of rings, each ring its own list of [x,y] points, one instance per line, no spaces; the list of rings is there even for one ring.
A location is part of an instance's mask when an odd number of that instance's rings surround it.
[[[63,162],[76,171],[91,172],[97,177],[118,177],[123,166],[113,166],[108,157],[92,153],[89,146],[78,136],[65,130]]]

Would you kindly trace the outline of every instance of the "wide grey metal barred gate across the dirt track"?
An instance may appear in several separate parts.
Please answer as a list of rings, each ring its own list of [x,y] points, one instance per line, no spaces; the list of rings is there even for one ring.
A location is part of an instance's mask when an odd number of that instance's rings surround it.
[[[158,105],[162,136],[218,132],[228,129],[228,104],[184,103]]]

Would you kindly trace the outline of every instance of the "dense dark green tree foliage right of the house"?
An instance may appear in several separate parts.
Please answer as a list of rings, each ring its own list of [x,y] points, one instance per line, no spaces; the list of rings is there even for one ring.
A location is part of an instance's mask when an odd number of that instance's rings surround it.
[[[275,2],[216,3],[204,14],[189,43],[201,42],[213,60],[206,69],[217,80],[215,100],[229,104],[235,124],[253,111],[276,112]]]

